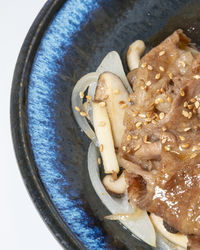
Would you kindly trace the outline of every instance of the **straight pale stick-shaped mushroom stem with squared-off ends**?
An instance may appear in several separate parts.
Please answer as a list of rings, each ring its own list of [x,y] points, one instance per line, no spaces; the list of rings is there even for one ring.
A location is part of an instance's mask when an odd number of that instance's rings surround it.
[[[115,147],[105,102],[93,102],[93,124],[99,142],[99,149],[106,174],[119,172],[119,164],[115,154]]]

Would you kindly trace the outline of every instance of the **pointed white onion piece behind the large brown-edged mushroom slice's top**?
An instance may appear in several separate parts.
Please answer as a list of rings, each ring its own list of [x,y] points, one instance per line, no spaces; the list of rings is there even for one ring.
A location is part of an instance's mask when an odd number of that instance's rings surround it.
[[[112,72],[113,74],[120,77],[122,80],[125,88],[128,90],[129,93],[132,93],[133,90],[127,80],[127,77],[124,73],[124,68],[122,65],[122,61],[120,59],[119,54],[116,51],[109,52],[97,68],[96,72],[103,73],[103,72]]]

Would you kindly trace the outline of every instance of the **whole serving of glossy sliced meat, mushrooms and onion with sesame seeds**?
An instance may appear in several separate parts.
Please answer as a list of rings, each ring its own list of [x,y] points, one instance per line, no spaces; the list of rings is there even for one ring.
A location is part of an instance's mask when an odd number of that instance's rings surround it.
[[[91,181],[107,219],[152,246],[156,229],[199,249],[200,53],[180,29],[140,59],[144,51],[140,40],[129,47],[127,77],[110,52],[74,87],[74,115],[93,141]],[[101,160],[103,179],[94,167]]]

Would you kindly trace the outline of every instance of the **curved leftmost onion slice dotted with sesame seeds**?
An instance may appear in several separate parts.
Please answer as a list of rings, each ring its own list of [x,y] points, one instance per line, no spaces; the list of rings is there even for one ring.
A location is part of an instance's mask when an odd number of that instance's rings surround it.
[[[92,140],[96,141],[96,135],[92,128],[90,127],[86,117],[83,117],[80,115],[78,111],[75,110],[75,107],[79,107],[80,109],[83,109],[83,100],[80,98],[79,93],[85,92],[85,90],[97,83],[99,78],[99,73],[97,72],[92,72],[88,73],[87,75],[84,75],[75,85],[73,92],[72,92],[72,110],[74,117],[78,123],[78,125],[81,127],[81,129],[85,132],[85,134]]]

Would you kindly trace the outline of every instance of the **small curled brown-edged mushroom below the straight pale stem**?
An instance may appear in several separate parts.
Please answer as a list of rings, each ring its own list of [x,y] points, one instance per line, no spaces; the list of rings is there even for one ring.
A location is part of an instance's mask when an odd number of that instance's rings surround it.
[[[118,179],[115,179],[113,175],[106,175],[102,183],[104,187],[111,193],[121,195],[126,192],[126,181],[124,177],[124,173],[120,175]]]

